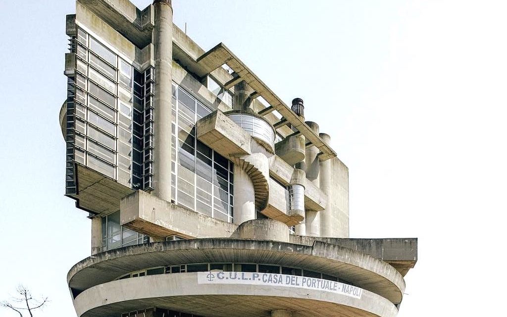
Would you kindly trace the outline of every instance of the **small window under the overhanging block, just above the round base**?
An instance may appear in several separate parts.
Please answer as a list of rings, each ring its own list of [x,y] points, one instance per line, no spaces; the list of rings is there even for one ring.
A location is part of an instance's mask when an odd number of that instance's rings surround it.
[[[147,235],[120,225],[120,211],[102,217],[102,251],[148,242]]]

